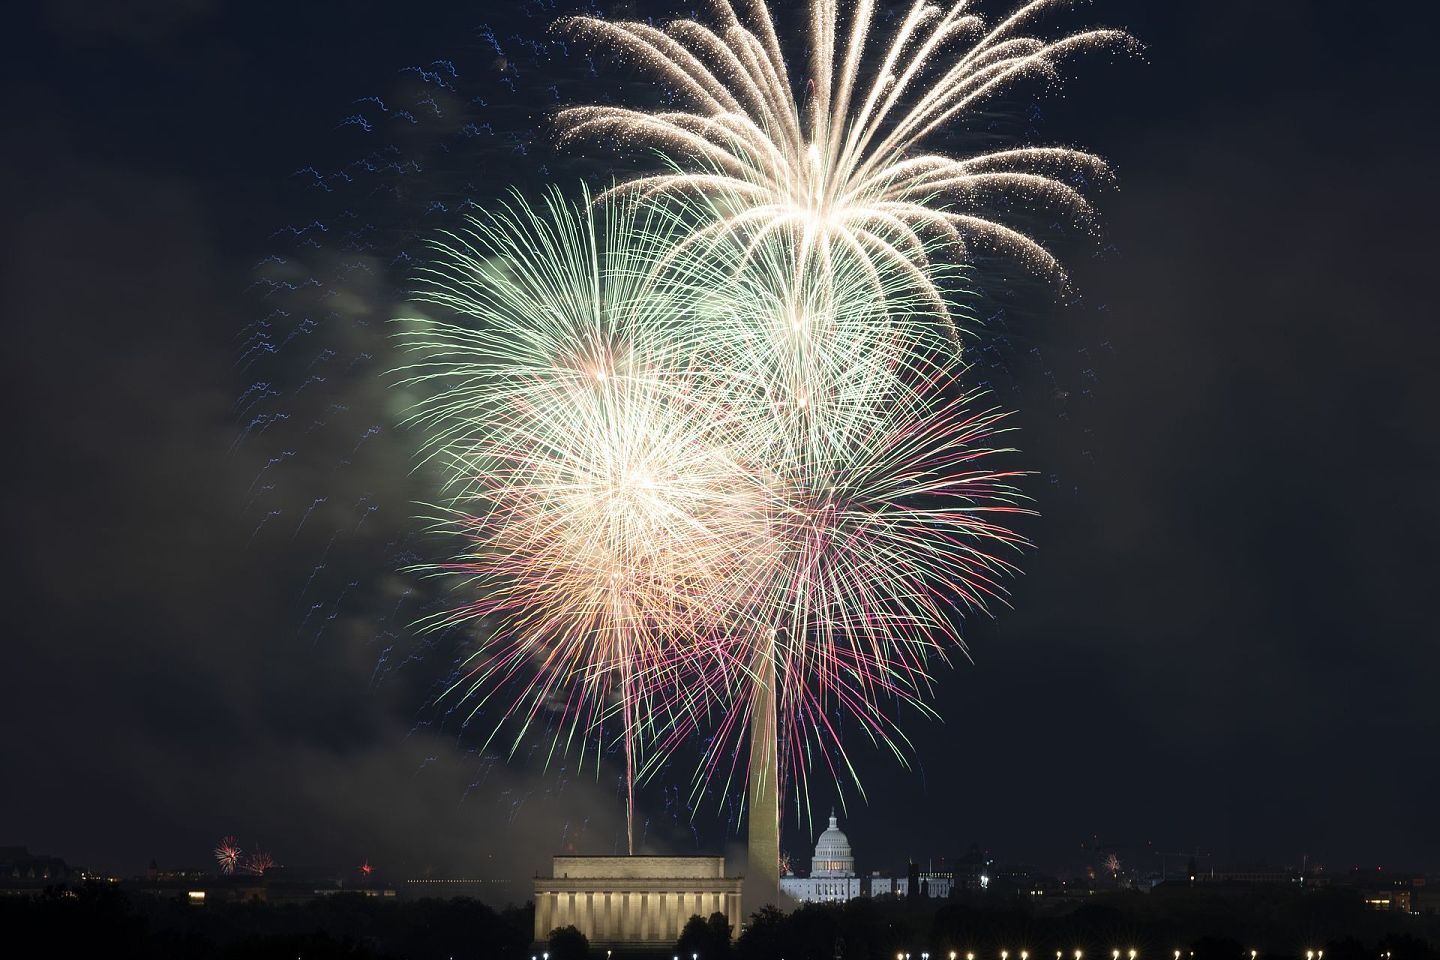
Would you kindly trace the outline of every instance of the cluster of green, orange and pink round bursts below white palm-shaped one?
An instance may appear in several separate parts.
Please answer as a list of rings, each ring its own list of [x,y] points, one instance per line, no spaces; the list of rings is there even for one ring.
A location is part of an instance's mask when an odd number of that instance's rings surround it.
[[[668,216],[602,210],[602,230],[556,197],[474,222],[422,291],[469,324],[402,334],[467,544],[435,570],[474,597],[438,623],[487,630],[455,689],[505,691],[521,734],[553,710],[552,748],[618,721],[631,803],[642,746],[658,761],[716,717],[719,769],[762,658],[796,782],[844,763],[831,707],[899,753],[884,704],[923,701],[948,610],[999,596],[991,548],[1022,543],[996,522],[1022,510],[1014,474],[982,461],[999,415],[935,399],[948,328],[899,272],[842,255],[791,284],[776,237],[730,273],[723,243],[674,256]],[[896,295],[867,296],[877,278]]]

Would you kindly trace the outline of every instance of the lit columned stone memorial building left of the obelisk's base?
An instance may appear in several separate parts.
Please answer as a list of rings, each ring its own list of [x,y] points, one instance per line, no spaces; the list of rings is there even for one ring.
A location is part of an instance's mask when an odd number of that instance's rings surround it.
[[[534,881],[536,940],[575,925],[592,944],[670,946],[691,917],[740,928],[739,877],[723,856],[556,856]]]

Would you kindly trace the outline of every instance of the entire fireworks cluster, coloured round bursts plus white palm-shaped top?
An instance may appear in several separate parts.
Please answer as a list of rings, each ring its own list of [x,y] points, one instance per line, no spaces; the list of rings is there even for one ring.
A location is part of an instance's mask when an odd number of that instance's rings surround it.
[[[621,743],[631,823],[636,777],[694,735],[698,783],[747,777],[772,820],[778,769],[799,792],[816,763],[852,777],[841,715],[903,757],[896,710],[932,712],[960,617],[1004,600],[1030,511],[994,465],[1005,415],[956,381],[971,266],[949,263],[989,248],[1058,275],[985,204],[1084,219],[1076,184],[1107,168],[923,144],[1129,42],[1027,35],[1054,6],[988,26],[914,3],[874,45],[871,0],[844,22],[814,0],[805,78],[759,0],[719,0],[714,29],[566,19],[685,108],[562,111],[564,140],[658,147],[667,170],[602,201],[516,200],[435,245],[419,299],[446,317],[405,321],[400,386],[461,544],[426,567],[467,592],[432,626],[477,638],[451,691],[498,705],[511,748],[537,727],[550,754]]]

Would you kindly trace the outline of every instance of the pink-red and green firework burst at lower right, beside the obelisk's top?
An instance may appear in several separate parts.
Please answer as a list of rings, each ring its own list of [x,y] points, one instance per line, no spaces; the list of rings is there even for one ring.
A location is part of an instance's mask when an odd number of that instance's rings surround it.
[[[719,666],[729,708],[707,774],[736,761],[727,741],[770,694],[753,682],[757,658],[775,665],[779,763],[799,793],[808,792],[808,764],[821,759],[831,777],[854,776],[835,710],[903,757],[893,707],[932,712],[930,671],[959,639],[958,610],[1002,599],[1012,571],[1005,553],[1024,545],[1005,525],[1028,512],[1012,488],[1018,474],[989,466],[1001,452],[991,439],[1001,417],[971,410],[963,397],[855,436],[844,458],[811,474],[824,478],[815,485],[782,481],[780,561],[755,616],[769,629],[720,648],[733,658]],[[726,776],[734,773],[732,766]]]

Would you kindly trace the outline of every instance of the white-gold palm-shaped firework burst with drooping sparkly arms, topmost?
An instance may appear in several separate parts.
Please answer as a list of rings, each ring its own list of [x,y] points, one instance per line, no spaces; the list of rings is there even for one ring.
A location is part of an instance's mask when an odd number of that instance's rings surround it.
[[[926,273],[924,235],[939,235],[968,258],[975,248],[1017,255],[1063,278],[1035,239],[985,214],[986,199],[1015,196],[1089,219],[1077,181],[1104,180],[1099,157],[1064,147],[1017,147],[950,157],[922,153],[923,141],[963,124],[1017,81],[1054,76],[1064,58],[1130,45],[1112,29],[1057,40],[1022,35],[1066,0],[1030,0],[994,26],[968,0],[940,9],[917,0],[888,42],[871,45],[874,1],[858,0],[845,29],[837,0],[811,0],[808,79],[792,75],[769,7],[717,0],[717,26],[677,20],[564,17],[562,33],[609,46],[660,78],[685,109],[622,107],[562,111],[562,141],[647,144],[693,164],[641,177],[624,189],[645,194],[721,194],[727,210],[701,235],[762,240],[795,237],[801,266],[827,269],[848,250],[890,263],[945,298]],[[878,76],[880,82],[870,82]],[[796,91],[805,91],[804,101]]]

